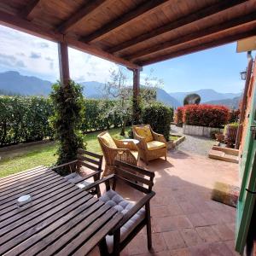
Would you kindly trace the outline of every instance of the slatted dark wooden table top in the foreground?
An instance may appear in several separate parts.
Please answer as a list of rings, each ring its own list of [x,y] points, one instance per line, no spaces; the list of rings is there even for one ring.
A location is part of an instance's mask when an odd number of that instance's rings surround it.
[[[0,255],[86,255],[123,217],[44,166],[0,178],[0,216]]]

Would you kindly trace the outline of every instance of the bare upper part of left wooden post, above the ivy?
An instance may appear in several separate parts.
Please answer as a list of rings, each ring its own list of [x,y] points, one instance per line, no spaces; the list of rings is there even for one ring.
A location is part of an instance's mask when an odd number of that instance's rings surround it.
[[[67,43],[58,43],[58,53],[61,84],[65,86],[70,80]]]

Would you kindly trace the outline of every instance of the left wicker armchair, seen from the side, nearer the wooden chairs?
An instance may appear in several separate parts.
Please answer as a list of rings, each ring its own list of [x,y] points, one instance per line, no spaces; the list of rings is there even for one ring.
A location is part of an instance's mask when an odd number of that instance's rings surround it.
[[[137,146],[134,143],[114,139],[108,131],[100,133],[98,141],[106,161],[103,176],[113,174],[114,160],[120,160],[132,166],[137,166],[139,156]]]

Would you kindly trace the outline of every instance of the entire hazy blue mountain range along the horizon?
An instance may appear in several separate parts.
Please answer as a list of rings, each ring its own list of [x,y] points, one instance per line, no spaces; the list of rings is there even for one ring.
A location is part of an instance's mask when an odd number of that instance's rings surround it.
[[[26,96],[47,96],[51,90],[51,82],[36,77],[24,76],[15,71],[0,73],[0,94],[19,94]],[[84,96],[88,98],[102,98],[104,84],[96,81],[80,83],[84,87]],[[230,108],[237,108],[241,94],[219,93],[212,89],[202,89],[191,92],[172,92],[157,89],[157,100],[168,106],[177,108],[183,105],[184,96],[189,93],[197,93],[201,96],[201,102],[212,104],[224,104]],[[234,100],[233,100],[234,99]]]

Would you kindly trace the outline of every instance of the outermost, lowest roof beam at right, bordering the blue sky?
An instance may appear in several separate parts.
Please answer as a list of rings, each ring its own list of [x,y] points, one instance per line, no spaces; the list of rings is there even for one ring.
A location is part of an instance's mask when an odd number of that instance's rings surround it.
[[[250,38],[250,37],[253,37],[255,35],[256,35],[256,28],[254,28],[251,31],[241,32],[241,33],[229,36],[229,37],[221,38],[219,40],[215,39],[215,40],[212,40],[211,42],[208,42],[208,43],[199,44],[199,45],[196,45],[196,46],[193,46],[193,47],[188,47],[186,49],[181,49],[181,50],[178,50],[176,52],[172,52],[170,54],[160,55],[160,56],[151,58],[147,61],[138,61],[137,65],[143,67],[143,66],[154,64],[156,62],[167,61],[167,60],[170,60],[170,59],[173,59],[173,58],[180,57],[182,55],[189,55],[189,54],[192,54],[192,53],[195,53],[197,51],[204,50],[204,49],[210,49],[210,48],[218,47],[218,46],[221,46],[221,45],[224,45],[224,44],[230,44],[230,43],[236,42],[237,40],[241,40],[243,38]]]

